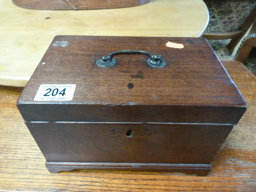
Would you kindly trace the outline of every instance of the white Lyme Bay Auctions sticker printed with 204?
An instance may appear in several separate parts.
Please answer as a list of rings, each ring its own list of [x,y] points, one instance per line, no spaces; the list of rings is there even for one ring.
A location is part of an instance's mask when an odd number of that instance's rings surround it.
[[[75,89],[75,84],[42,84],[34,101],[71,101]]]

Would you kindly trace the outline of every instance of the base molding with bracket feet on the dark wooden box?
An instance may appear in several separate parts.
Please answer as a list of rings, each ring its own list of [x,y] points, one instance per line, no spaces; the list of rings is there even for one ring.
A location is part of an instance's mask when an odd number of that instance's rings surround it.
[[[210,164],[152,164],[152,163],[84,163],[84,162],[46,162],[51,173],[72,171],[75,169],[95,170],[132,170],[132,171],[177,171],[186,174],[206,176],[211,170]]]

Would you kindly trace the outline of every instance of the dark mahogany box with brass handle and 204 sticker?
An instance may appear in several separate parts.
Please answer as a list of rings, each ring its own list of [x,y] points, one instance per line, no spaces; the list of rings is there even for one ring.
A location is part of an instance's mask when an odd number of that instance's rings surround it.
[[[17,106],[53,173],[206,175],[246,110],[204,38],[170,37],[56,36]]]

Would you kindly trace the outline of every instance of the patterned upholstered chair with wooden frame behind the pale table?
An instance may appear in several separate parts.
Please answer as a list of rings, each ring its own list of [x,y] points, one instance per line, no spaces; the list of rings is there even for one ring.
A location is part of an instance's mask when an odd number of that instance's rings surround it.
[[[203,34],[218,56],[231,56],[256,20],[256,0],[204,0],[210,13]],[[254,30],[254,31],[253,31]],[[255,33],[255,28],[250,33]]]

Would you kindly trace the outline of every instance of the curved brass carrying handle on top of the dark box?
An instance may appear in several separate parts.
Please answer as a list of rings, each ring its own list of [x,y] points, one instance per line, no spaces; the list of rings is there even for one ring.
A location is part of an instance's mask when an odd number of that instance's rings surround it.
[[[122,50],[112,52],[110,55],[104,55],[102,58],[99,58],[96,64],[100,67],[112,67],[116,64],[116,60],[113,58],[115,55],[118,54],[142,54],[149,57],[148,65],[154,68],[161,68],[165,66],[165,61],[161,58],[160,54],[154,54],[147,51],[140,51],[140,50]]]

